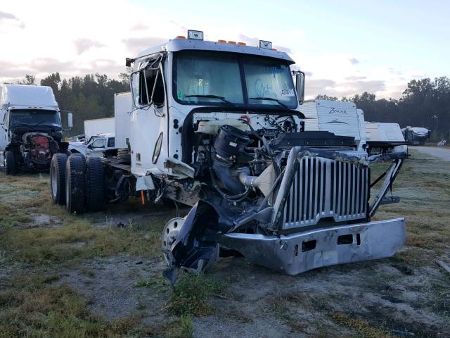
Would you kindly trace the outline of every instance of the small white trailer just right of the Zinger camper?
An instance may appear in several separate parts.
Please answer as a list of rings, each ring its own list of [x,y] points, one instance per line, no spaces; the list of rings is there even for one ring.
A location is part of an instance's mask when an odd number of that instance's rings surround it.
[[[369,155],[408,150],[398,123],[366,121],[366,144]]]

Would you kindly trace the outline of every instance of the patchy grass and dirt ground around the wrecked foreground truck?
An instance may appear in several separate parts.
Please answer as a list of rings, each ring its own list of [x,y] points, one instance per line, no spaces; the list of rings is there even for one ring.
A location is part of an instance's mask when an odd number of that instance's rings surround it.
[[[295,277],[221,258],[172,289],[159,234],[174,209],[69,216],[46,175],[0,173],[0,337],[450,337],[450,163],[413,151],[393,194],[375,217],[406,218],[392,258]]]

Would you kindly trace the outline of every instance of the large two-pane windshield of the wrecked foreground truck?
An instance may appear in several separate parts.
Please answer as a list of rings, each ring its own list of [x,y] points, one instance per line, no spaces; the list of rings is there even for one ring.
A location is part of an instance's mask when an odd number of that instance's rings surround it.
[[[174,96],[181,104],[297,107],[287,63],[212,51],[176,54]]]

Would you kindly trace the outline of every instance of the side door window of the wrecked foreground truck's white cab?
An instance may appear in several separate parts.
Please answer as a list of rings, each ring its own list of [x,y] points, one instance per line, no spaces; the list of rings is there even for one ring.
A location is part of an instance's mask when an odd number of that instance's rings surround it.
[[[151,63],[139,72],[139,104],[164,105],[164,82],[160,69],[160,61]]]

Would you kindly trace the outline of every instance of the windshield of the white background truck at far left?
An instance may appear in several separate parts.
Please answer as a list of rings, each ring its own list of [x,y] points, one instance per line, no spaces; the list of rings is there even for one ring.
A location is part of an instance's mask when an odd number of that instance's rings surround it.
[[[60,127],[61,122],[57,111],[13,109],[11,110],[10,125],[50,125],[52,127]]]

